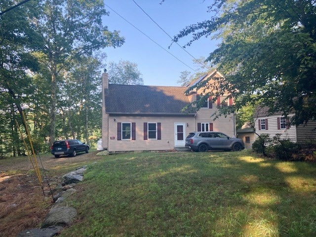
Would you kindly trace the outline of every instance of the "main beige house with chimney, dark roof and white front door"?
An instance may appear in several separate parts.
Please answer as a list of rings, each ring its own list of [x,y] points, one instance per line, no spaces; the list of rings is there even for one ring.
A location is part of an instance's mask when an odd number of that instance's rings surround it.
[[[172,150],[184,147],[194,131],[221,131],[236,137],[235,115],[211,118],[218,106],[229,106],[227,95],[203,101],[198,111],[183,110],[199,99],[202,89],[186,90],[203,80],[223,78],[216,70],[187,86],[109,84],[103,73],[102,146],[109,152]],[[206,90],[207,92],[207,90]],[[205,92],[204,92],[205,93]]]

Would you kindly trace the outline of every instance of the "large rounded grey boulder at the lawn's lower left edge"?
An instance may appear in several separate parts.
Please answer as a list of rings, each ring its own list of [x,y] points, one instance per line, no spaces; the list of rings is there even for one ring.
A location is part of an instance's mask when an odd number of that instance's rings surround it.
[[[77,216],[77,210],[69,206],[53,208],[49,211],[41,228],[50,226],[68,226]]]

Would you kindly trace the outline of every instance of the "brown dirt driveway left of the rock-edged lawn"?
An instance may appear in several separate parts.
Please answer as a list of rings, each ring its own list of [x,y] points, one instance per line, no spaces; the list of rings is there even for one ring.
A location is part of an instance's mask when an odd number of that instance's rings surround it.
[[[23,230],[39,228],[52,206],[52,197],[41,163],[53,189],[60,184],[61,176],[65,174],[61,173],[64,172],[60,171],[61,168],[75,168],[103,158],[96,154],[97,152],[90,152],[61,158],[45,155],[38,158],[43,188],[27,157],[0,159],[0,237],[16,237]]]

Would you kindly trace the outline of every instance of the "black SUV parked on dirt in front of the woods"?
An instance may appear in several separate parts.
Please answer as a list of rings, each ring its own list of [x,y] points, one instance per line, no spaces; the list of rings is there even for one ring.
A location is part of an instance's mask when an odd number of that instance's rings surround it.
[[[61,155],[69,155],[75,157],[78,152],[89,152],[90,147],[77,139],[67,139],[55,141],[53,146],[50,147],[51,154],[56,158],[59,158]]]

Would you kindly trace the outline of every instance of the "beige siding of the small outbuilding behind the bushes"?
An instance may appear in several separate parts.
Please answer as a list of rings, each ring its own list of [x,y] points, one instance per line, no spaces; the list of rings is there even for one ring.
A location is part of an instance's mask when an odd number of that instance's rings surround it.
[[[277,129],[277,118],[282,117],[281,115],[273,115],[269,117],[259,117],[255,119],[255,130],[256,133],[261,134],[269,134],[270,138],[276,136],[276,134],[281,134],[281,139],[290,139],[293,142],[296,142],[296,128],[295,126],[291,126],[289,129]],[[268,119],[268,130],[259,130],[259,119]],[[258,135],[255,135],[257,138]]]

